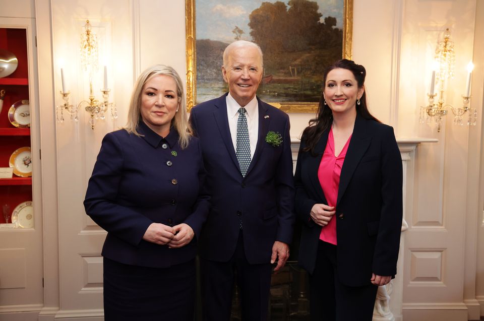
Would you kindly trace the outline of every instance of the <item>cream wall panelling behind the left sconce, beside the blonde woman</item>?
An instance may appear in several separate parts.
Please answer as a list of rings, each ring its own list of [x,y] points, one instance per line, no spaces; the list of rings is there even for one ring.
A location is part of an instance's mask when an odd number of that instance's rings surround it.
[[[80,36],[89,19],[99,45],[98,71],[93,73],[93,94],[102,99],[103,66],[107,66],[110,101],[118,119],[96,120],[79,110],[79,123],[69,118],[56,123],[59,199],[60,311],[57,317],[102,315],[102,258],[105,232],[86,217],[83,199],[101,140],[126,123],[133,86],[132,2],[129,0],[52,0],[53,72],[57,104],[61,103],[60,68],[64,68],[70,101],[89,96],[88,75],[80,64]]]

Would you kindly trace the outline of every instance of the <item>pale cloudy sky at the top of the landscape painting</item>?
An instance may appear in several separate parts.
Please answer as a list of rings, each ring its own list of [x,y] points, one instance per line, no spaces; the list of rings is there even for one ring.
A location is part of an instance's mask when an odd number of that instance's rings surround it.
[[[274,3],[276,0],[265,0]],[[338,28],[343,28],[343,0],[313,0],[318,3],[319,12],[325,17],[336,17]],[[261,6],[263,0],[196,0],[197,39],[211,39],[230,43],[234,41],[232,30],[242,29],[243,39],[251,40],[249,14]],[[287,5],[288,0],[282,1]]]

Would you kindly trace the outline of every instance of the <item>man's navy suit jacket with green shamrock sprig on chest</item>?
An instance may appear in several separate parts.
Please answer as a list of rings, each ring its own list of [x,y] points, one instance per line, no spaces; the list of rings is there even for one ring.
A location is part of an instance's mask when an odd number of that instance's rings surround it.
[[[290,244],[295,220],[289,117],[258,99],[259,137],[243,177],[230,136],[226,96],[197,105],[190,115],[202,145],[207,170],[205,188],[211,197],[210,213],[199,238],[199,253],[207,260],[230,260],[241,218],[248,262],[269,263],[274,241]],[[266,142],[269,131],[282,136],[280,146]]]

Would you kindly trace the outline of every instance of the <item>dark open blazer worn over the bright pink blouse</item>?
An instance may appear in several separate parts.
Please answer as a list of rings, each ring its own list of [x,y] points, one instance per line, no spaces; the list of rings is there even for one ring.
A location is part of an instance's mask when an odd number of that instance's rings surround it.
[[[316,157],[297,157],[294,176],[295,208],[302,224],[299,264],[313,273],[321,226],[310,212],[314,204],[327,204],[318,168],[329,130],[316,145]],[[348,286],[371,284],[372,273],[394,276],[402,225],[402,160],[393,128],[357,116],[346,153],[336,203],[337,274]]]

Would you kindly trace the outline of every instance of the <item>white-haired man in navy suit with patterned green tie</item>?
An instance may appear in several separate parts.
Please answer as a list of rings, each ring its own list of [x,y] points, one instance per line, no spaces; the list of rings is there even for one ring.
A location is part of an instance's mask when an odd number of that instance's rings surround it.
[[[242,319],[265,320],[271,264],[278,271],[289,257],[295,220],[289,117],[256,97],[262,70],[257,44],[231,43],[222,67],[229,92],[190,116],[212,197],[199,238],[207,321],[229,320],[234,281]]]

